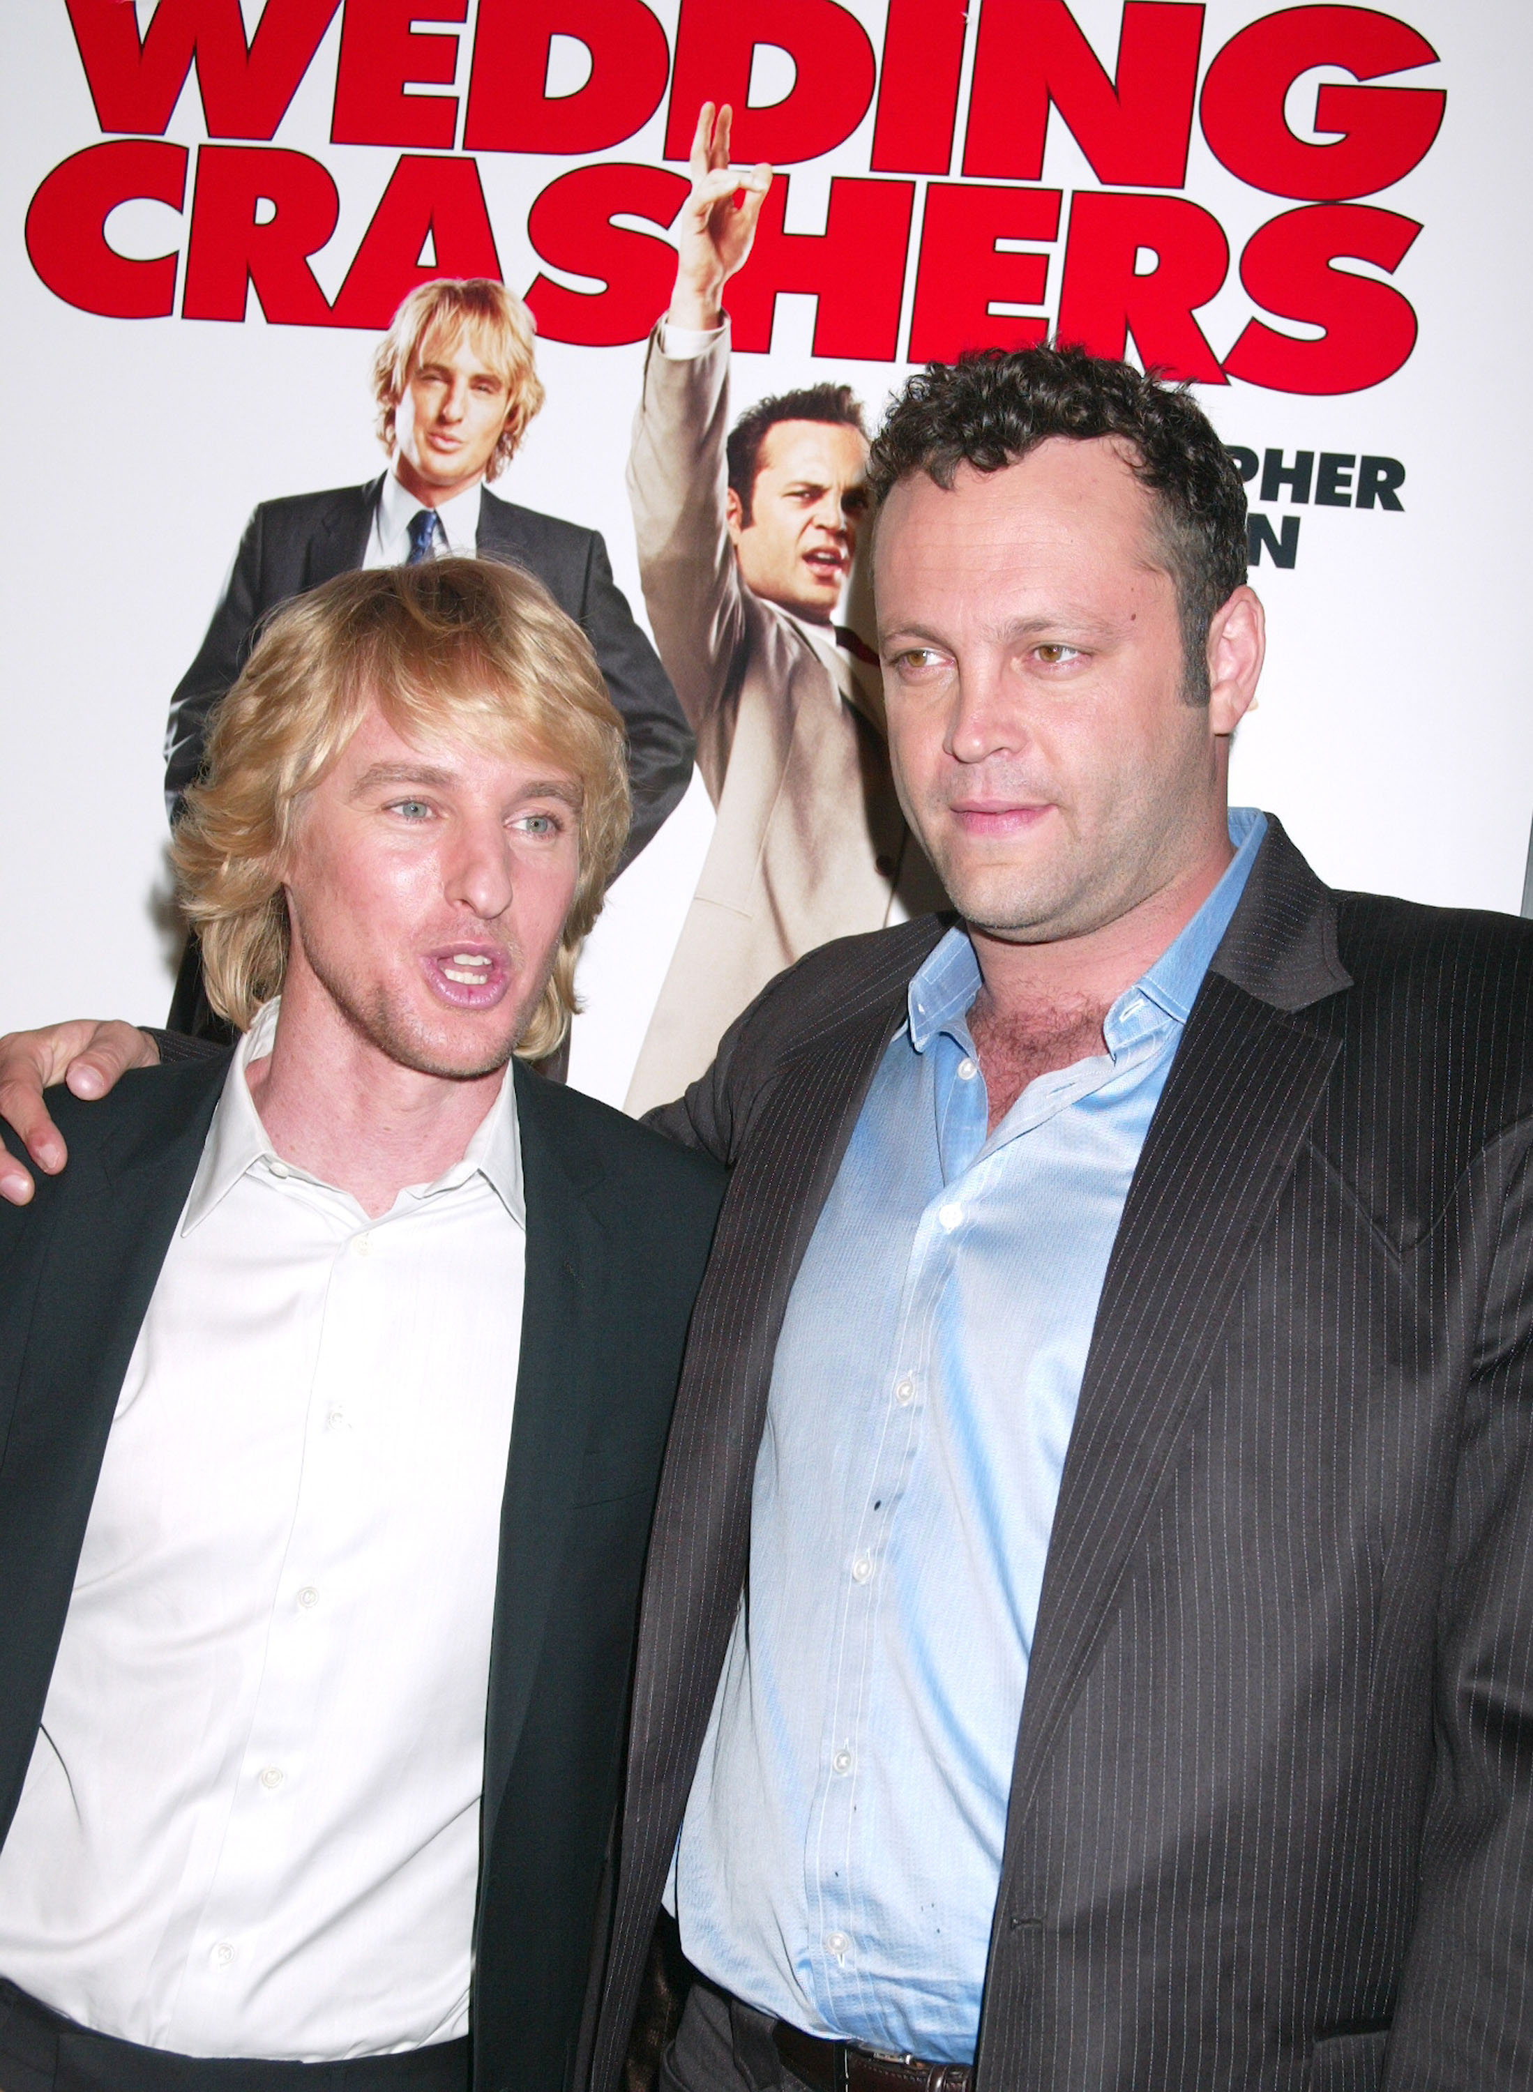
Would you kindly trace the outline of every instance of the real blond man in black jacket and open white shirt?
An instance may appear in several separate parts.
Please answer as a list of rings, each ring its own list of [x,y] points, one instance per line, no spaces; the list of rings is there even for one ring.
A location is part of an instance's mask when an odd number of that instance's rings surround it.
[[[0,1209],[6,2088],[569,2082],[722,1182],[512,1061],[625,814],[481,561],[324,584],[218,713],[174,849],[241,1042],[59,1096]]]

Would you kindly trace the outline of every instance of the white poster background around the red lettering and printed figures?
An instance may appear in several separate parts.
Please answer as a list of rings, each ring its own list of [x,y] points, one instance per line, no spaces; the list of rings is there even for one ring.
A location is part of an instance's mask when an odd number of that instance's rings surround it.
[[[475,4],[458,46],[460,86]],[[671,36],[676,0],[653,0],[653,10]],[[151,13],[140,0],[140,25]],[[853,0],[851,13],[878,46],[883,0]],[[1121,0],[1077,0],[1073,13],[1111,71]],[[1249,0],[1211,0],[1203,63],[1263,13]],[[1288,458],[1295,450],[1380,454],[1408,473],[1403,513],[1292,508],[1286,496],[1261,504],[1274,529],[1299,515],[1301,544],[1292,569],[1267,559],[1253,571],[1269,611],[1272,659],[1261,707],[1240,732],[1234,795],[1276,810],[1328,881],[1516,910],[1533,818],[1523,611],[1533,550],[1533,416],[1523,377],[1533,17],[1516,0],[1399,0],[1397,13],[1441,54],[1399,84],[1447,90],[1431,153],[1368,199],[1422,224],[1393,276],[1420,320],[1414,354],[1382,385],[1338,397],[1240,381],[1198,387],[1230,444],[1282,448]],[[245,17],[247,25],[259,19],[259,0],[245,0]],[[337,44],[339,19],[276,134],[276,144],[322,159],[341,190],[337,234],[316,259],[326,293],[339,287],[397,157],[328,142]],[[1295,88],[1288,119],[1301,132],[1315,113],[1318,77],[1347,75],[1328,67]],[[770,94],[770,69],[761,84]],[[100,138],[63,0],[4,8],[0,107],[10,343],[10,469],[0,506],[0,1025],[77,1013],[153,1021],[163,1015],[176,954],[161,797],[167,699],[253,502],[379,471],[372,337],[268,326],[255,299],[245,324],[109,320],[63,303],[38,280],[23,245],[42,178]],[[642,134],[602,157],[659,163],[663,119],[665,105]],[[870,134],[866,117],[824,161],[793,172],[788,230],[822,228],[830,174],[866,176]],[[195,88],[182,92],[167,136],[203,140]],[[525,236],[527,207],[567,165],[481,155],[502,268],[517,289],[540,268]],[[1058,115],[1044,180],[1067,192],[1100,186]],[[1234,257],[1257,226],[1295,207],[1228,174],[1196,126],[1186,195],[1221,220]],[[165,205],[132,203],[113,215],[109,234],[128,255],[157,255],[178,243],[180,222]],[[1056,249],[1050,310],[1058,268]],[[1226,289],[1198,314],[1219,356],[1253,310],[1232,262]],[[736,358],[736,404],[828,374],[849,377],[870,408],[883,404],[906,366],[814,360],[811,316],[807,297],[778,303],[772,356]],[[640,356],[638,345],[544,341],[548,406],[498,492],[602,529],[617,579],[642,615],[623,496]],[[615,1100],[709,822],[694,782],[619,881],[592,939],[573,1075]]]

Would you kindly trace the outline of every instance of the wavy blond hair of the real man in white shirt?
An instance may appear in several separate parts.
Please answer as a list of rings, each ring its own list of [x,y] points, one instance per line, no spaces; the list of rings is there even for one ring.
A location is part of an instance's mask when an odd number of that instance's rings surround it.
[[[579,780],[579,877],[552,977],[517,1052],[542,1061],[575,1013],[575,960],[627,837],[627,749],[596,655],[542,582],[479,559],[343,573],[287,602],[218,705],[176,824],[180,904],[207,1000],[247,1031],[282,987],[282,866],[297,816],[370,705],[406,741],[454,734]]]

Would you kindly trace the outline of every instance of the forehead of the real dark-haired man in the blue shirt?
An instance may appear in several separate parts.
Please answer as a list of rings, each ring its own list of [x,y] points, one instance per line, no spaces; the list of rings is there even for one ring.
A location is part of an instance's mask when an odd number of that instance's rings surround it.
[[[878,607],[897,617],[922,598],[1138,592],[1169,579],[1154,525],[1154,496],[1111,437],[1050,437],[998,473],[964,464],[949,490],[914,473],[878,517]]]

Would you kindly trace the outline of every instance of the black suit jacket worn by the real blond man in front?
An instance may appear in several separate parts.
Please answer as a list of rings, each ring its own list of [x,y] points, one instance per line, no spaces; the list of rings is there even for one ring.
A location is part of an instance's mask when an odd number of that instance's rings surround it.
[[[38,1738],[121,1379],[228,1054],[52,1111],[0,1205],[0,1839]],[[527,1308],[496,1590],[471,2031],[481,2092],[575,2069],[640,1567],[722,1172],[517,1069]]]

